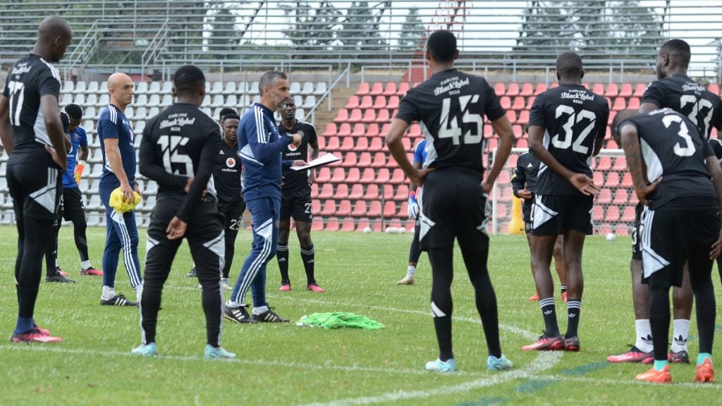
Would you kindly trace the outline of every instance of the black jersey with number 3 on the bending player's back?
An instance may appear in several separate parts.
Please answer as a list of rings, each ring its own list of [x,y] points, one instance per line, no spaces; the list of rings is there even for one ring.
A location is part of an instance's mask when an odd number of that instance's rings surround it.
[[[699,137],[690,119],[670,108],[635,116],[619,124],[635,126],[647,178],[661,183],[648,196],[649,207],[657,209],[677,197],[700,196],[716,199],[710,173],[705,164],[714,152]]]

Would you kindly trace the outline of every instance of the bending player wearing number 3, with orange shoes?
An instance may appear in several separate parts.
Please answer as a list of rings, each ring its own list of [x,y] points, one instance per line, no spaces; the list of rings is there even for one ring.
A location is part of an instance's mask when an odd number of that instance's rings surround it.
[[[671,382],[669,288],[682,285],[684,273],[690,277],[697,301],[700,353],[694,381],[711,382],[716,318],[711,273],[722,247],[722,170],[695,124],[670,108],[646,114],[620,111],[612,131],[625,150],[635,192],[645,205],[640,246],[643,282],[649,291],[654,367],[635,379]],[[685,263],[688,272],[683,270]]]

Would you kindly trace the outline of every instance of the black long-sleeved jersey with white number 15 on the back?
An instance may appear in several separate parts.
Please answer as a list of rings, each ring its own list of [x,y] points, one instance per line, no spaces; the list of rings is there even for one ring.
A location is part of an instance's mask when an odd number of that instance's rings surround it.
[[[178,201],[188,223],[204,189],[215,194],[211,174],[220,149],[220,126],[196,105],[175,103],[148,121],[140,144],[139,168],[158,183],[158,199]],[[186,192],[188,177],[193,186]],[[210,182],[209,182],[210,181]]]

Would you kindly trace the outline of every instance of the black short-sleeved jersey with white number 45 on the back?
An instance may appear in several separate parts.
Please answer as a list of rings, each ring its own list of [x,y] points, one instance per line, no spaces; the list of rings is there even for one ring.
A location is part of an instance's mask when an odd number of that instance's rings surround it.
[[[424,168],[464,168],[484,174],[484,115],[505,115],[494,89],[483,77],[448,69],[406,93],[396,118],[418,121],[427,140]]]

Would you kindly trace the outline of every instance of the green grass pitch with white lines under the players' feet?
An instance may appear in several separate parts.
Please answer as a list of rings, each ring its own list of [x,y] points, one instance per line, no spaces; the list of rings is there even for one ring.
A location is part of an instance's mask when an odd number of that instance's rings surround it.
[[[144,230],[141,233],[143,263]],[[60,259],[78,282],[51,284],[43,279],[35,308],[39,324],[64,342],[10,343],[7,337],[17,316],[17,234],[14,227],[4,226],[0,236],[2,405],[643,405],[708,404],[722,394],[720,384],[692,384],[693,365],[671,366],[674,384],[660,386],[633,381],[648,366],[606,362],[607,355],[625,350],[634,336],[630,239],[625,237],[611,243],[604,236],[587,239],[580,353],[521,351],[544,327],[538,304],[527,301],[534,293],[529,251],[523,236],[492,237],[489,266],[500,308],[502,347],[515,364],[504,373],[486,370],[482,327],[457,251],[453,340],[460,372],[438,375],[423,370],[424,363],[438,355],[425,254],[416,285],[394,284],[406,273],[412,238],[408,233],[313,233],[317,280],[326,289],[322,294],[305,290],[293,238],[290,292],[277,290],[277,264],[269,264],[269,303],[281,316],[296,321],[313,312],[352,311],[380,321],[385,329],[227,322],[223,345],[238,355],[230,361],[203,360],[201,293],[196,280],[185,277],[191,267],[185,243],[165,285],[157,334],[160,356],[139,358],[130,353],[140,342],[137,309],[99,305],[102,279],[80,277],[71,226],[61,230]],[[104,228],[88,229],[96,267],[104,239]],[[250,244],[251,232],[242,231],[232,278],[238,276]],[[134,296],[122,265],[116,291]],[[694,358],[694,317],[690,333]]]

